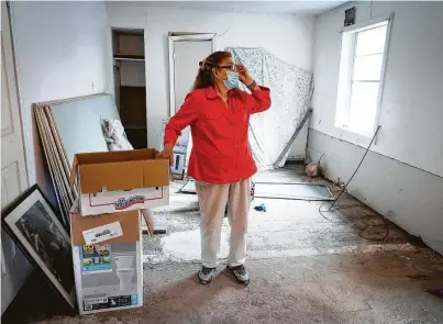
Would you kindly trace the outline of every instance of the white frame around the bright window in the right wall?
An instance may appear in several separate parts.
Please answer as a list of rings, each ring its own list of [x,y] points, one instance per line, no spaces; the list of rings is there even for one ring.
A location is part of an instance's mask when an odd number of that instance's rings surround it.
[[[343,62],[342,57],[340,59],[340,70],[342,68],[347,69],[347,75],[345,80],[340,79],[340,74],[339,74],[339,88],[337,88],[337,102],[336,102],[336,112],[335,112],[335,126],[342,130],[345,130],[347,132],[357,134],[357,135],[363,135],[366,137],[372,137],[377,127],[378,127],[378,122],[380,118],[380,108],[381,108],[381,100],[383,100],[383,92],[384,92],[384,85],[385,85],[385,71],[386,71],[386,65],[387,65],[387,57],[388,57],[388,52],[389,52],[389,41],[390,41],[390,31],[391,31],[391,25],[392,25],[392,20],[394,20],[394,13],[385,16],[378,16],[376,19],[373,19],[370,21],[367,21],[365,23],[361,23],[357,25],[352,25],[344,27],[341,33],[352,33],[352,38],[351,38],[351,48],[348,53],[350,60]],[[376,27],[377,24],[383,24],[384,22],[387,22],[386,25],[386,38],[385,38],[385,46],[384,46],[384,54],[383,54],[383,60],[381,60],[381,72],[380,72],[380,80],[378,81],[378,96],[377,96],[377,107],[376,107],[376,113],[374,118],[374,127],[370,133],[365,133],[357,131],[353,129],[351,125],[348,125],[348,116],[350,116],[350,104],[351,104],[351,92],[352,92],[352,79],[353,79],[353,72],[354,72],[354,62],[355,62],[355,51],[356,51],[356,34],[358,32],[365,31],[365,30],[370,30],[373,27]],[[342,36],[342,43],[341,43],[341,53],[343,52],[343,36]],[[346,67],[343,67],[342,65],[346,65]],[[344,85],[342,83],[344,82]]]

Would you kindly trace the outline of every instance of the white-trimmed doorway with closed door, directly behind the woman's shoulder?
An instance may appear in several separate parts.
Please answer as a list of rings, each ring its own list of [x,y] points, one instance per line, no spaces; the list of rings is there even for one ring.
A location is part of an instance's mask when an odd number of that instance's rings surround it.
[[[192,90],[199,62],[214,51],[214,36],[215,34],[169,33],[170,116],[180,109],[186,96]],[[190,129],[187,127],[174,148],[173,176],[184,178],[191,148],[192,138]]]

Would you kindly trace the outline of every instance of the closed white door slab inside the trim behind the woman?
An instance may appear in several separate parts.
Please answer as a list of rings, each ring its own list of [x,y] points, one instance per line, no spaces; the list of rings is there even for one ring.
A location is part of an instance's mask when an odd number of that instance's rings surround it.
[[[212,41],[176,41],[174,42],[174,80],[175,80],[175,109],[181,107],[186,96],[191,91],[196,79],[199,62],[203,60],[212,53]],[[189,161],[189,154],[192,148],[192,138],[189,127],[182,132],[181,138],[188,139],[186,168]]]

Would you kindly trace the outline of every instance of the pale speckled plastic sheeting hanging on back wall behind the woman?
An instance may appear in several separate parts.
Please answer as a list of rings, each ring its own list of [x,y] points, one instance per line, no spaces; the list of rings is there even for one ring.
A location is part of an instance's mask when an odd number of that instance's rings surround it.
[[[250,145],[261,170],[283,167],[310,112],[312,72],[289,65],[264,48],[228,47],[258,85],[270,88],[272,108],[250,120]],[[243,90],[247,90],[242,85]]]

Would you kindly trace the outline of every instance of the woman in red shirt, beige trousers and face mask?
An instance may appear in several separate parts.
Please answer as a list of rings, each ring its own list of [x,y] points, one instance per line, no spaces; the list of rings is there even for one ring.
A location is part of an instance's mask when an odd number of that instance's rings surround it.
[[[242,81],[252,92],[239,88]],[[270,107],[269,89],[258,87],[243,65],[234,65],[229,52],[215,52],[200,63],[190,92],[165,129],[159,158],[173,158],[181,130],[191,126],[192,150],[188,175],[196,180],[201,210],[199,280],[212,281],[220,249],[226,202],[231,225],[228,270],[242,284],[250,283],[244,268],[251,177],[257,171],[247,139],[250,115]]]

